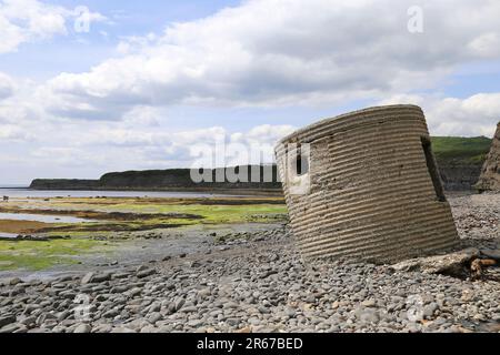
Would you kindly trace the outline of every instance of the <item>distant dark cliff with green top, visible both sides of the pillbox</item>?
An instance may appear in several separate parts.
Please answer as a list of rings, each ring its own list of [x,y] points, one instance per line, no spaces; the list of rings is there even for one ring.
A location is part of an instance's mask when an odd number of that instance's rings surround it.
[[[472,190],[481,174],[482,166],[491,146],[491,139],[434,136],[432,150],[436,155],[443,186],[448,191]],[[248,180],[252,166],[248,168]],[[253,166],[256,168],[256,166]],[[277,168],[272,166],[272,181],[262,182],[263,170],[260,168],[259,182],[194,183],[189,169],[147,170],[113,172],[99,180],[52,180],[37,179],[30,185],[33,190],[270,190],[281,191],[277,182]],[[269,168],[269,166],[268,166]],[[209,170],[212,180],[224,172],[224,169]],[[222,174],[223,175],[223,174]]]

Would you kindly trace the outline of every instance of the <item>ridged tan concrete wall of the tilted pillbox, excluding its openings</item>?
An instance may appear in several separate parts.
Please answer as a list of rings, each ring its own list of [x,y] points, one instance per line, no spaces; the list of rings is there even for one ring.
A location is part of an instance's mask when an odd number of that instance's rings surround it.
[[[429,133],[421,109],[392,105],[323,120],[280,142],[277,162],[303,256],[384,263],[457,246],[422,136]],[[303,195],[293,195],[286,179],[289,143],[311,144]]]

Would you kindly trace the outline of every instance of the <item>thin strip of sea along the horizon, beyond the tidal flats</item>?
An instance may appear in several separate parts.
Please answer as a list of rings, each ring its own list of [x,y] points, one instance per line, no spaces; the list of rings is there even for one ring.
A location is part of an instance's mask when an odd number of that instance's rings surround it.
[[[10,199],[20,197],[222,197],[227,194],[200,193],[200,192],[174,192],[174,191],[79,191],[79,190],[30,190],[0,187],[0,196]],[[236,196],[236,195],[234,195]]]

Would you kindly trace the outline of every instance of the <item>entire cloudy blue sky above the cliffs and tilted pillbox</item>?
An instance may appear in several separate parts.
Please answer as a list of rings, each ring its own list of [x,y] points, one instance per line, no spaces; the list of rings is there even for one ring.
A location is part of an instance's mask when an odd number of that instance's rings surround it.
[[[380,104],[492,136],[499,17],[496,0],[0,0],[0,184],[189,168],[220,142],[223,164],[271,162],[293,130]]]

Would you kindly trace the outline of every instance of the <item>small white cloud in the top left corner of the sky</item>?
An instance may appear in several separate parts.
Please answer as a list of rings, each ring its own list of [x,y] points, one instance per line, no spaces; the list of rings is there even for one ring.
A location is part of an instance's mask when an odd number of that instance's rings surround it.
[[[0,54],[17,51],[19,45],[67,34],[68,20],[77,20],[81,12],[39,0],[0,0]],[[106,21],[98,12],[89,11],[89,23]]]

